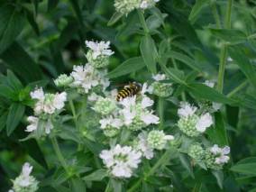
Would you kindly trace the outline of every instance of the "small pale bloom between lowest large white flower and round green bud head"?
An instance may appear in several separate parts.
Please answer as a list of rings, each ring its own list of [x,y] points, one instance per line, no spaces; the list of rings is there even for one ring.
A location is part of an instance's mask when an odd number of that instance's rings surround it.
[[[153,148],[149,145],[147,141],[148,134],[147,133],[140,133],[138,135],[139,141],[136,145],[136,149],[142,152],[143,157],[148,160],[151,160],[154,157]]]

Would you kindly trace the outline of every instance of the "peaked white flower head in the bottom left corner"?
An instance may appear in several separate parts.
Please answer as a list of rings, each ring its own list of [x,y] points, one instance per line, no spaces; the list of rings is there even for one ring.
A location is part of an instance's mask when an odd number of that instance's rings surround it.
[[[32,166],[29,163],[23,165],[22,173],[13,180],[13,189],[9,192],[34,192],[38,189],[39,182],[32,177]]]

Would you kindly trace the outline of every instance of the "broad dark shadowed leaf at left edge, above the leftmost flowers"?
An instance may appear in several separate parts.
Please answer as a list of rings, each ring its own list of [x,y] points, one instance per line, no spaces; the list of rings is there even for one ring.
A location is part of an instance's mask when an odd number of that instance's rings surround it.
[[[7,66],[25,82],[41,80],[41,69],[17,42],[5,50],[0,58],[5,60]]]

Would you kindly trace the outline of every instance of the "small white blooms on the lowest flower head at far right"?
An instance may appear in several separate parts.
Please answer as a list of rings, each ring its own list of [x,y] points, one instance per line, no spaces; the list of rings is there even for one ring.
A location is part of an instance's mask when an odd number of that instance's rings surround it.
[[[229,156],[227,156],[230,153],[230,147],[224,146],[224,148],[220,148],[218,145],[214,145],[210,151],[216,156],[215,157],[215,163],[216,164],[224,164],[227,163],[230,159]]]

